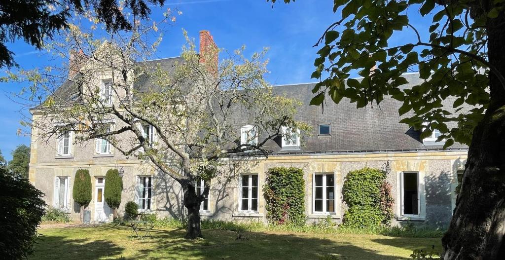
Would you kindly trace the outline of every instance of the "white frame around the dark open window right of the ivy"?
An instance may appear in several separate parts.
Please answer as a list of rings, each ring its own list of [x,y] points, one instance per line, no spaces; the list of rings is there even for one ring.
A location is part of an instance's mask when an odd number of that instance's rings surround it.
[[[404,214],[403,213],[403,197],[405,196],[404,190],[403,190],[403,180],[405,177],[403,177],[404,174],[406,173],[417,173],[417,196],[418,196],[418,215],[414,214]],[[423,171],[403,171],[399,172],[397,182],[398,182],[398,200],[400,203],[396,203],[398,205],[398,220],[419,220],[419,221],[424,221],[426,220],[426,187],[425,187],[425,182],[424,182],[424,177],[425,173]]]

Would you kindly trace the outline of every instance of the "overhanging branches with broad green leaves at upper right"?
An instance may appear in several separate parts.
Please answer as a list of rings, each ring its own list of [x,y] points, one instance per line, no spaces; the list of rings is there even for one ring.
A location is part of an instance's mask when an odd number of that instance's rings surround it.
[[[335,0],[333,12],[341,18],[314,45],[319,58],[312,78],[321,81],[311,105],[322,105],[329,96],[363,108],[391,96],[403,103],[401,122],[423,129],[421,138],[438,129],[445,147],[454,141],[469,144],[489,105],[487,74],[505,87],[503,75],[488,61],[484,27],[502,4],[490,2],[483,10],[472,3]],[[419,15],[432,25],[418,28],[410,18]],[[400,31],[412,37],[399,39]],[[421,81],[407,88],[402,74],[408,72],[419,72]],[[355,73],[362,78],[349,78]]]

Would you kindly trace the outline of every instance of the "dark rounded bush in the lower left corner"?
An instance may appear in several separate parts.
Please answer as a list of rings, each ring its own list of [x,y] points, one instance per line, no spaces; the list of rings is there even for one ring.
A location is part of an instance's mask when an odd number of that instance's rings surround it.
[[[20,259],[33,253],[46,205],[43,196],[27,179],[0,168],[0,258]]]

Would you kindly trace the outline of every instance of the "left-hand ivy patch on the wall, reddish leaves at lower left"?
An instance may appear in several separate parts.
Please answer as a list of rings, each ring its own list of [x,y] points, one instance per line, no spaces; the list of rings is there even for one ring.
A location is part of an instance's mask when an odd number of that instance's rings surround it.
[[[305,223],[304,171],[293,167],[270,168],[263,193],[267,216],[272,222],[295,225]]]

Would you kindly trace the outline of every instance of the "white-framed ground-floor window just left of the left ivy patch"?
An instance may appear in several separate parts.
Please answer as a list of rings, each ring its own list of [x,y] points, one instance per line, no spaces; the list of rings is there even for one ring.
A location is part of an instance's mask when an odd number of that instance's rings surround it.
[[[257,174],[240,175],[238,209],[241,212],[258,212],[259,183]]]

